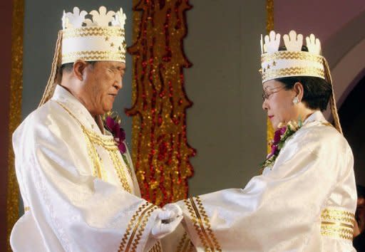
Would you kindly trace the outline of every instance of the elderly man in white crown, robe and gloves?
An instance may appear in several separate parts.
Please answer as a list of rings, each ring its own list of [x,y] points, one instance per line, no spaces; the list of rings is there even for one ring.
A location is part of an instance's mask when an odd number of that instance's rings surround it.
[[[101,122],[122,88],[125,14],[76,7],[62,20],[41,106],[13,136],[26,212],[14,226],[11,246],[148,251],[182,217],[177,206],[162,210],[140,199],[128,151],[120,153]]]

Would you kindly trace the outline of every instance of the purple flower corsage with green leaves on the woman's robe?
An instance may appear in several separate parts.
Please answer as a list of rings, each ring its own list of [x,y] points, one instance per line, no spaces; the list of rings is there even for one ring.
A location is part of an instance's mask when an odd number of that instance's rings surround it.
[[[277,126],[277,130],[274,132],[274,139],[271,144],[271,152],[267,155],[266,160],[261,164],[261,171],[264,167],[272,166],[279,156],[279,152],[284,146],[285,141],[287,141],[288,137],[293,135],[297,130],[299,130],[303,126],[302,120],[289,121],[286,125],[282,122]]]

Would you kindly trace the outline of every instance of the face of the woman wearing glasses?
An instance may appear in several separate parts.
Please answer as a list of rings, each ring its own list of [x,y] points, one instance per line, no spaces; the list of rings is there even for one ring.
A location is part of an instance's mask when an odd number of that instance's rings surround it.
[[[298,120],[298,106],[293,103],[297,95],[294,90],[286,90],[284,84],[277,80],[267,80],[263,84],[263,92],[262,108],[267,111],[274,130],[277,130],[279,122]]]

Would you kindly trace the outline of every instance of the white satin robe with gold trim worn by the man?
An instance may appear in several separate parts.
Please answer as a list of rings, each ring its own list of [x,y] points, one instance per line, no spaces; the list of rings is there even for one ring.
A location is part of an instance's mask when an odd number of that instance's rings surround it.
[[[57,86],[13,135],[16,177],[26,212],[11,233],[16,252],[147,251],[157,206],[111,135]],[[155,248],[154,251],[158,251]]]

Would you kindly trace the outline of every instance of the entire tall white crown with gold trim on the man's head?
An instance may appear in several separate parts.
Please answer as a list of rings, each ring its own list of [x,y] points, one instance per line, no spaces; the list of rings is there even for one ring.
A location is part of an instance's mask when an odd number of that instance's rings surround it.
[[[123,9],[107,11],[63,11],[62,64],[83,61],[120,61],[125,63],[125,25]]]

